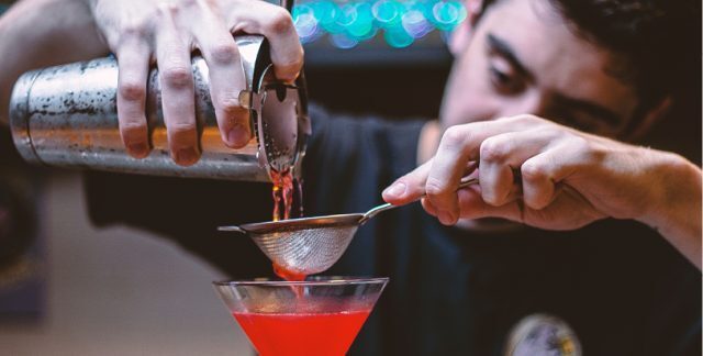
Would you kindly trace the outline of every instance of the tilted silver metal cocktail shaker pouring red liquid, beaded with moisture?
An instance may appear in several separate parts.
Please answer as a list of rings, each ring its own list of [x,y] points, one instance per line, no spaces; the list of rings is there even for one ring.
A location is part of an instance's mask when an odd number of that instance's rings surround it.
[[[146,102],[152,152],[143,159],[129,156],[118,126],[118,66],[112,57],[22,75],[10,101],[15,147],[29,162],[59,167],[249,181],[270,181],[271,169],[299,174],[311,132],[302,73],[294,85],[280,82],[263,36],[235,41],[247,81],[239,99],[249,109],[255,133],[243,148],[226,147],[220,138],[201,57],[191,64],[202,155],[190,167],[170,158],[156,68],[149,73]]]

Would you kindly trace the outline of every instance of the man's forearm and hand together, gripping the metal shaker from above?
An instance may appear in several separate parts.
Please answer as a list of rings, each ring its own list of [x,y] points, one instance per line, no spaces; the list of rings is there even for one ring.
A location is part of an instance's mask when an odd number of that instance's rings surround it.
[[[246,145],[252,131],[249,113],[238,100],[246,80],[232,34],[264,35],[279,80],[295,79],[303,64],[290,13],[266,1],[25,0],[2,19],[0,31],[2,115],[12,82],[22,71],[96,57],[109,48],[118,59],[118,120],[127,153],[135,158],[149,154],[144,110],[148,70],[156,64],[169,149],[182,166],[200,158],[193,51],[208,64],[220,134],[233,148]]]

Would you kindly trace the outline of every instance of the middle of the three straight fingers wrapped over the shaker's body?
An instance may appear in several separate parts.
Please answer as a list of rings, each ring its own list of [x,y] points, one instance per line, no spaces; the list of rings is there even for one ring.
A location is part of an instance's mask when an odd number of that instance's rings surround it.
[[[156,37],[161,107],[171,157],[178,165],[190,166],[200,157],[190,48],[178,36],[169,11],[163,10]]]

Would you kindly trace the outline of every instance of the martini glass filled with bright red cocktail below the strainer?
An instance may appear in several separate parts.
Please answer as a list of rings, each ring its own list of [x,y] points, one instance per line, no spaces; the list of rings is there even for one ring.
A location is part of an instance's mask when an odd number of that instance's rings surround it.
[[[344,355],[388,278],[214,282],[261,356]]]

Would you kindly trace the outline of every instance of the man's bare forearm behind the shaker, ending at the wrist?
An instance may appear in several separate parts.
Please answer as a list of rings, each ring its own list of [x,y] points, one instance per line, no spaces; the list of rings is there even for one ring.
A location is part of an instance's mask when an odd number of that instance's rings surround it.
[[[87,1],[19,1],[0,18],[0,122],[22,73],[107,53]]]

